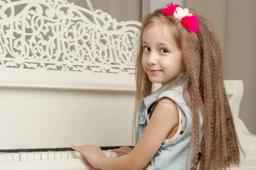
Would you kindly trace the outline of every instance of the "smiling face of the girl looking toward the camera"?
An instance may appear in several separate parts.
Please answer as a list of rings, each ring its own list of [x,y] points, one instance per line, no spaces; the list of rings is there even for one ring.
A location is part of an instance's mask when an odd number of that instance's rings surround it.
[[[151,82],[164,85],[183,70],[182,52],[166,26],[145,29],[143,47],[142,64]]]

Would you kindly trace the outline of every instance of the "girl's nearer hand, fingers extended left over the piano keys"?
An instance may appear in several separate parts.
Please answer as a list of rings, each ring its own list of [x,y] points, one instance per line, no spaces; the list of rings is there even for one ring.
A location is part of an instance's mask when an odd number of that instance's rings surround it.
[[[85,159],[95,168],[99,168],[99,159],[105,158],[105,154],[102,152],[100,147],[95,145],[85,145],[76,147],[75,145],[71,144],[73,150],[81,153]]]

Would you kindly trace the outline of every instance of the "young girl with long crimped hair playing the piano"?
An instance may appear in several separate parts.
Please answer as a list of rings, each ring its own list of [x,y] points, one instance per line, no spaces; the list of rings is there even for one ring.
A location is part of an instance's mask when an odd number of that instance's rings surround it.
[[[163,86],[152,94],[153,83]],[[113,151],[124,156],[109,158],[95,145],[71,145],[93,167],[223,170],[239,165],[244,152],[225,92],[221,49],[204,17],[172,3],[146,16],[136,85],[134,149],[121,147]]]

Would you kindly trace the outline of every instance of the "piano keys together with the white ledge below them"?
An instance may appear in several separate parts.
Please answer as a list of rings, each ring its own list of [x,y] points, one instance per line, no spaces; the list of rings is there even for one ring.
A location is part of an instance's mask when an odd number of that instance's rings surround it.
[[[106,157],[116,157],[113,149],[101,147]],[[96,170],[72,148],[0,150],[0,170]]]

